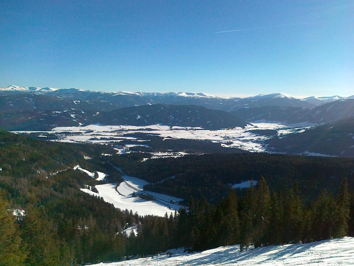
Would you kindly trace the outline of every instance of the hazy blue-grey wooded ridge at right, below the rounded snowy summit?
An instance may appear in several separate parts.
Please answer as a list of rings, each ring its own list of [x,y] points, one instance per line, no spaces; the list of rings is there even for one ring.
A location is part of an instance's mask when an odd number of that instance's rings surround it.
[[[263,106],[242,108],[230,112],[249,122],[281,122],[285,124],[324,124],[354,116],[354,99],[329,102],[314,109],[300,107]]]

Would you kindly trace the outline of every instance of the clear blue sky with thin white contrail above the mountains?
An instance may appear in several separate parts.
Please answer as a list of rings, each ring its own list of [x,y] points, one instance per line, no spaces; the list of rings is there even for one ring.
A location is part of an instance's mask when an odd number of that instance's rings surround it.
[[[354,94],[353,0],[2,0],[0,10],[0,87]],[[298,23],[308,24],[272,27]],[[250,30],[215,33],[236,29]]]

